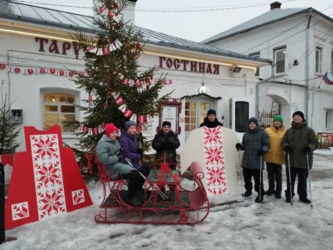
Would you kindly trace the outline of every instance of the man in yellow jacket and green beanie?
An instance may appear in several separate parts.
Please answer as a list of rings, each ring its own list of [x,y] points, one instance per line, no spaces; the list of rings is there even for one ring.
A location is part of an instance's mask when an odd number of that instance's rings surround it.
[[[273,195],[281,198],[282,192],[282,164],[284,163],[284,150],[281,145],[284,129],[282,116],[275,116],[271,127],[266,128],[270,148],[265,154],[265,161],[268,174],[268,190],[266,195]],[[276,188],[275,188],[276,181]]]

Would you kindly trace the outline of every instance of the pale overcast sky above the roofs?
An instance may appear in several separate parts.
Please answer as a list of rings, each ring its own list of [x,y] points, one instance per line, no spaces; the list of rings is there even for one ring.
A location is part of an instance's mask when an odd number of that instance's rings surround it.
[[[91,7],[92,0],[26,0],[39,3],[53,3],[71,6]],[[160,31],[185,39],[200,42],[207,37],[221,33],[233,26],[243,23],[253,17],[270,10],[269,4],[274,0],[138,0],[135,12],[135,24],[151,30]],[[280,0],[282,8],[312,7],[333,17],[333,0]],[[36,3],[27,3],[38,5]],[[260,5],[260,6],[258,6]],[[43,6],[43,5],[39,5]],[[212,7],[215,6],[215,7]],[[252,7],[251,7],[252,6]],[[327,8],[332,6],[330,8]],[[89,8],[69,8],[45,6],[92,15]],[[245,8],[244,8],[245,7]],[[212,9],[233,8],[229,10]],[[144,12],[140,10],[210,10],[200,12]],[[325,10],[326,9],[326,10]]]

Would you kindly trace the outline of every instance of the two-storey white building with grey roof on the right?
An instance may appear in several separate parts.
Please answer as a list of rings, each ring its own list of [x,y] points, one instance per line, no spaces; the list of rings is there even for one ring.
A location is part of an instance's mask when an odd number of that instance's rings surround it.
[[[322,78],[333,69],[333,19],[313,8],[280,6],[271,3],[268,12],[202,43],[272,60],[273,67],[256,74],[266,79],[259,84],[259,111],[280,107],[289,126],[293,111],[301,110],[316,132],[332,132],[333,87]]]

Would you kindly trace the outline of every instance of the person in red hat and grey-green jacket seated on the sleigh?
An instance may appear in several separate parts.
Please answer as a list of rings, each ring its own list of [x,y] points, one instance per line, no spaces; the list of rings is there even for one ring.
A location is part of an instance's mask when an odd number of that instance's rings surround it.
[[[105,125],[105,134],[96,145],[96,155],[112,179],[119,175],[123,179],[128,179],[128,203],[141,206],[144,203],[142,196],[144,179],[135,168],[123,163],[121,147],[117,140],[118,133],[119,129],[113,123]]]

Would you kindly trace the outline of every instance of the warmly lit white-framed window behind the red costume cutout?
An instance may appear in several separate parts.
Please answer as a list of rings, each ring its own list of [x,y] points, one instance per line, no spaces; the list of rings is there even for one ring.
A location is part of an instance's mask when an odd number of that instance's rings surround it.
[[[60,125],[61,132],[74,132],[69,123],[76,120],[76,95],[74,93],[43,92],[43,127],[48,130]]]

